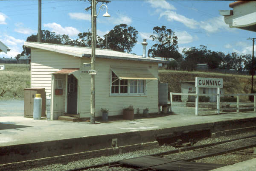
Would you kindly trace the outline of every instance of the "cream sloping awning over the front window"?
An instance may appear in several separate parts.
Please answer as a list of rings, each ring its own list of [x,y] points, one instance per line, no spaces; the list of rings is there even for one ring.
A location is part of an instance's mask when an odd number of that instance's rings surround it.
[[[111,67],[119,79],[157,80],[146,68]]]

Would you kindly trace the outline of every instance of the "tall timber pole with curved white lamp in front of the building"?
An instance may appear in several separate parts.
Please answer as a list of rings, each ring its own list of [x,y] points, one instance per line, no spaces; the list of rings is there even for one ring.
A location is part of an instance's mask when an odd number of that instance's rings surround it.
[[[99,11],[106,7],[106,13],[104,17],[110,17],[108,14],[108,7],[105,4],[102,4],[99,7]],[[103,8],[102,8],[103,7]],[[95,49],[96,49],[96,0],[92,0],[92,57],[91,57],[91,70],[95,70]],[[95,72],[96,74],[96,72]],[[90,95],[90,123],[95,124],[95,75],[91,74],[91,95]]]

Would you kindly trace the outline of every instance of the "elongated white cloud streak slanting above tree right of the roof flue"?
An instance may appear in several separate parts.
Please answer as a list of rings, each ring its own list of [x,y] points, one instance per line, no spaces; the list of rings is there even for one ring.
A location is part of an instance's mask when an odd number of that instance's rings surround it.
[[[198,22],[194,19],[189,19],[183,15],[177,14],[175,11],[164,11],[160,13],[160,17],[166,17],[167,21],[177,21],[186,25],[188,28],[197,28]]]

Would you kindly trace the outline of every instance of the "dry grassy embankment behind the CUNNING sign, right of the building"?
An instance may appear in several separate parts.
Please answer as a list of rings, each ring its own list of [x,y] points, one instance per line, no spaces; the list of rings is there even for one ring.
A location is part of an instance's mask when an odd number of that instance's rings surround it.
[[[250,93],[251,89],[251,76],[207,72],[159,70],[159,77],[161,82],[169,83],[169,92],[173,93],[180,93],[181,87],[179,81],[195,81],[195,77],[223,78],[225,93]],[[248,97],[243,96],[241,100],[245,100],[245,98],[247,99]]]

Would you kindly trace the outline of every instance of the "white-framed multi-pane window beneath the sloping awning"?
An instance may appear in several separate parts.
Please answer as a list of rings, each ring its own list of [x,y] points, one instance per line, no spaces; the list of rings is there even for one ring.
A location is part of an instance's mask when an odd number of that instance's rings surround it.
[[[128,79],[120,80],[112,71],[111,95],[145,95],[145,81]]]

